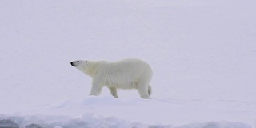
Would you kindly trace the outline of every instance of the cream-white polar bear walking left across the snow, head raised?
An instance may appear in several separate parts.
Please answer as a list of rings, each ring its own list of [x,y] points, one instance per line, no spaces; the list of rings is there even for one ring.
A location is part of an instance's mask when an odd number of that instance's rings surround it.
[[[92,77],[90,95],[99,95],[106,86],[115,98],[118,98],[117,89],[137,89],[141,98],[150,98],[153,71],[140,59],[127,58],[117,62],[78,60],[70,64]]]

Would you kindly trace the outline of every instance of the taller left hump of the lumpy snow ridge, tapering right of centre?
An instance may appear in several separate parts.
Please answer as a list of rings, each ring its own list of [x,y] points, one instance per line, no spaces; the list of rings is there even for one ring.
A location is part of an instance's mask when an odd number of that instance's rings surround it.
[[[0,116],[0,127],[8,128],[118,128],[118,127],[162,127],[167,128],[171,126],[149,126],[139,122],[128,122],[126,120],[115,117],[98,117],[95,118],[93,114],[87,114],[82,118],[67,118],[65,116],[26,116],[26,117],[5,117]]]

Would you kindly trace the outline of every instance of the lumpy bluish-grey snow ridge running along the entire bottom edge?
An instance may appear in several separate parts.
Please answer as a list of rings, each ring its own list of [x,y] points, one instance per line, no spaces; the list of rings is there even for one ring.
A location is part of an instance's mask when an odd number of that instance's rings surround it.
[[[62,119],[62,121],[61,121]],[[109,117],[95,118],[93,114],[87,114],[82,118],[66,118],[60,116],[26,116],[5,117],[0,116],[1,128],[250,128],[240,122],[203,122],[183,126],[146,125],[139,122]]]

